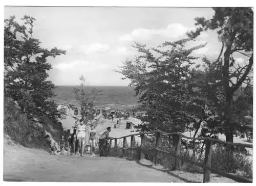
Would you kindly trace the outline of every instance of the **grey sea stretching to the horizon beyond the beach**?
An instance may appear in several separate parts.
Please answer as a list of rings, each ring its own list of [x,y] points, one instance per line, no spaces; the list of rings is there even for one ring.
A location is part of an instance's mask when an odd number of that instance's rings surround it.
[[[78,105],[74,88],[76,86],[56,86],[54,89],[54,101],[58,104]],[[117,110],[127,110],[139,105],[135,91],[128,86],[86,86],[86,91],[93,89],[101,91],[95,100],[95,106],[100,108],[111,108]]]

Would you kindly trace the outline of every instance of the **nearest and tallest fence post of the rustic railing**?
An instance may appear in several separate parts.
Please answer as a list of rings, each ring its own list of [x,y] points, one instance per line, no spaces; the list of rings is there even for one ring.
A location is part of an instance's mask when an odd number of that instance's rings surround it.
[[[211,141],[205,141],[205,157],[204,157],[204,165],[211,167]],[[204,180],[203,182],[210,181],[210,170],[204,168]]]

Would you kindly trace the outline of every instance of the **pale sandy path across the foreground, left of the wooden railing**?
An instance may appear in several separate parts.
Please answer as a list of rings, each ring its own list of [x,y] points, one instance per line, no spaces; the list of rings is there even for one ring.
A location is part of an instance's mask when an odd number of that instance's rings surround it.
[[[25,148],[4,139],[5,181],[76,182],[202,182],[202,174],[166,172],[151,162],[118,157],[50,155],[44,150]],[[161,171],[162,170],[162,171]],[[211,182],[234,182],[211,175]]]

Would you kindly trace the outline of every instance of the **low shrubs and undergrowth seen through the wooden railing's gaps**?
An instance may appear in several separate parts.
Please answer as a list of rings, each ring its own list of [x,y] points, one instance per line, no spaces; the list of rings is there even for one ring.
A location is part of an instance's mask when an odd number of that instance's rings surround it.
[[[142,147],[145,149],[155,148],[155,137],[154,135],[144,137],[144,143]],[[202,143],[198,142],[195,144],[195,148],[189,145],[186,141],[182,140],[181,144],[181,156],[189,160],[194,160],[197,163],[204,163],[205,146],[202,148]],[[165,151],[173,151],[172,142],[163,141],[162,147]],[[138,144],[137,144],[138,146]],[[122,147],[122,142],[119,142],[118,147]],[[195,154],[193,153],[195,152]],[[113,156],[119,156],[121,150],[113,151]],[[127,151],[126,156],[131,156],[130,152]],[[144,152],[145,159],[155,161],[155,152]],[[240,176],[246,176],[252,178],[252,162],[248,160],[249,153],[244,147],[229,147],[222,144],[215,144],[211,147],[211,167],[221,170],[226,173],[234,173]],[[132,155],[135,157],[134,155]],[[165,168],[172,169],[175,163],[175,157],[168,154],[157,154],[156,162],[161,164]],[[181,168],[179,170],[191,172],[191,173],[203,173],[203,168],[187,162],[181,162]]]

